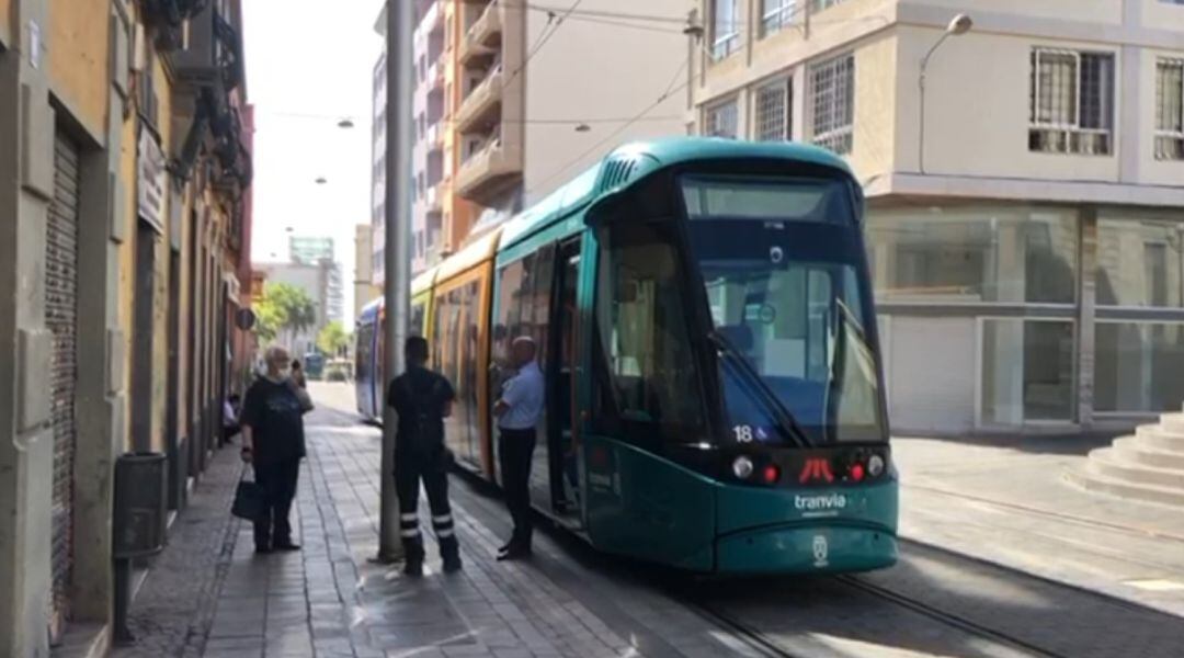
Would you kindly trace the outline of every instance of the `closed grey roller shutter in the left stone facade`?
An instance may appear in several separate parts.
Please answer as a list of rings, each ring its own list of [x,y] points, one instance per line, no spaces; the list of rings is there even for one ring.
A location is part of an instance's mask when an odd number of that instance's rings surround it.
[[[53,202],[45,240],[45,324],[53,334],[53,615],[59,638],[70,615],[73,563],[75,385],[78,304],[78,147],[60,134],[53,149]]]

